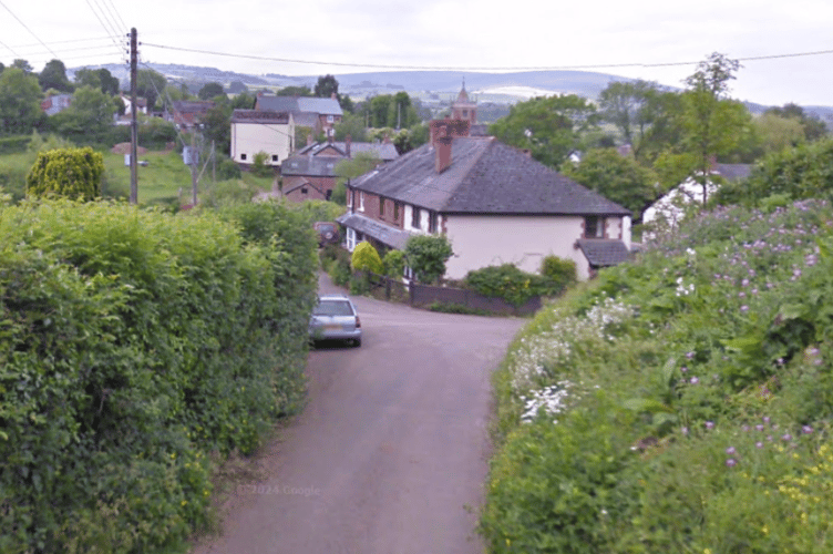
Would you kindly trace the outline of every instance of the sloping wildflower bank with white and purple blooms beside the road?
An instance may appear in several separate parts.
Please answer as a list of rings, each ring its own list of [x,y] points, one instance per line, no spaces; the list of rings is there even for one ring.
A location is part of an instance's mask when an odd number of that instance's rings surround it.
[[[493,553],[833,548],[833,209],[720,208],[542,310],[495,373]]]

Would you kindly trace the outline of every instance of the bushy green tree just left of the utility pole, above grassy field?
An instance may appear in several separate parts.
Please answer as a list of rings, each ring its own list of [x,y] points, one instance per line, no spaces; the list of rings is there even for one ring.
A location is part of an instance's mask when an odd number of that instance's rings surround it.
[[[113,125],[116,111],[113,96],[86,85],[75,91],[70,106],[50,117],[49,124],[62,136],[99,141]]]

